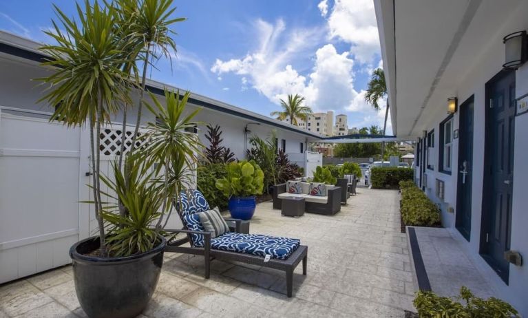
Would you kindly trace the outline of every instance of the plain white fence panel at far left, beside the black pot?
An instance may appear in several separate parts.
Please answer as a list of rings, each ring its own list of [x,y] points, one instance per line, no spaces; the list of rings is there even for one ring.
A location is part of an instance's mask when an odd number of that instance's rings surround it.
[[[0,112],[0,283],[70,263],[80,137],[78,128]]]

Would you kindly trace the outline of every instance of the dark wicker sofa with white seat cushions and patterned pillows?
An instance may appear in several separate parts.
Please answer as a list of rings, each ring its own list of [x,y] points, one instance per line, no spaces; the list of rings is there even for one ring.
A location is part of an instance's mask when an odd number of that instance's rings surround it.
[[[304,198],[305,210],[308,213],[317,213],[324,215],[334,215],[341,211],[341,187],[327,186],[328,194],[326,196],[310,195],[306,190],[306,184],[302,182],[303,193],[288,193],[286,183],[275,184],[273,189],[273,209],[282,209],[282,199],[284,198]]]

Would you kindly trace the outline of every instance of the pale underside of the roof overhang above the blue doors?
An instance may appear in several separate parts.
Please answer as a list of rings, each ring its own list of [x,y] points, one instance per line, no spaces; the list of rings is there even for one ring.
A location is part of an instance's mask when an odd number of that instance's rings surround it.
[[[525,0],[374,0],[374,8],[392,129],[414,137],[447,117],[447,98],[469,98],[461,87],[500,72],[502,38],[525,30],[528,14]]]

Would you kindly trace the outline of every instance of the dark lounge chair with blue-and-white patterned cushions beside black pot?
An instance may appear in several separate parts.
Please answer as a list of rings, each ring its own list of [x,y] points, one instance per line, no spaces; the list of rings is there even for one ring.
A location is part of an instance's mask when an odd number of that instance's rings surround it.
[[[288,237],[240,233],[242,220],[231,218],[224,218],[235,223],[235,226],[229,226],[230,232],[211,238],[211,232],[205,231],[202,224],[188,222],[189,218],[186,218],[193,213],[209,210],[207,200],[198,190],[182,193],[176,206],[180,220],[187,229],[165,229],[165,232],[171,235],[167,240],[166,252],[203,255],[206,279],[209,279],[213,259],[255,264],[284,271],[286,292],[288,297],[292,297],[293,271],[302,261],[302,273],[306,275],[308,246]],[[177,240],[175,237],[178,233],[185,233],[186,237]],[[187,242],[190,247],[183,246]],[[266,255],[271,256],[267,262]]]

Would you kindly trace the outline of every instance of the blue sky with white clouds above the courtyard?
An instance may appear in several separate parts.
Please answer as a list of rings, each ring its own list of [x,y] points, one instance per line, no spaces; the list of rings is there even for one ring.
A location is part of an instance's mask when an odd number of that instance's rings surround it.
[[[0,29],[36,41],[71,0],[0,1]],[[149,76],[269,116],[301,94],[315,112],[347,114],[349,127],[383,125],[384,109],[363,100],[381,66],[372,0],[174,1],[178,52]],[[384,106],[384,103],[383,103]],[[388,134],[391,133],[388,120]]]

